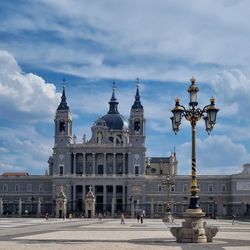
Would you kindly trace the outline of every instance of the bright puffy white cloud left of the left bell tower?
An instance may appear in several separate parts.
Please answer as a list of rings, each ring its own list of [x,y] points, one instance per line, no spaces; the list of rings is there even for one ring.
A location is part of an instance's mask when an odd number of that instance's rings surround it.
[[[51,119],[59,98],[55,85],[32,73],[22,72],[10,53],[0,51],[2,117],[27,122]]]

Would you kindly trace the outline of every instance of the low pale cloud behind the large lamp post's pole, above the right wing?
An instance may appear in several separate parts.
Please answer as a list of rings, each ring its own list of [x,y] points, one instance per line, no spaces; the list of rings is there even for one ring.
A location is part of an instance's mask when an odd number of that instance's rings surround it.
[[[250,161],[250,154],[244,145],[234,143],[229,137],[209,136],[196,141],[197,175],[200,174],[233,174]],[[191,143],[177,147],[179,173],[191,173]]]

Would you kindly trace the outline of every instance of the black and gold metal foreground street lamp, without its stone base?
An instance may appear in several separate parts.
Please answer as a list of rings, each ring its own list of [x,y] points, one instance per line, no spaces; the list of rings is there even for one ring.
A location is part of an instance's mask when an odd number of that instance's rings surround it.
[[[190,185],[190,204],[189,209],[200,208],[199,196],[197,192],[199,191],[197,178],[196,178],[196,153],[195,153],[195,130],[197,122],[203,117],[205,120],[206,131],[208,134],[212,131],[216,123],[216,115],[219,111],[215,107],[215,99],[210,99],[210,104],[206,105],[203,109],[197,107],[198,101],[197,96],[199,88],[195,84],[195,79],[192,77],[191,85],[188,88],[190,94],[189,108],[186,109],[184,106],[180,105],[180,99],[176,98],[175,107],[172,109],[173,117],[171,117],[172,128],[175,134],[178,133],[179,127],[181,125],[182,117],[185,117],[186,120],[190,121],[192,127],[192,181]]]

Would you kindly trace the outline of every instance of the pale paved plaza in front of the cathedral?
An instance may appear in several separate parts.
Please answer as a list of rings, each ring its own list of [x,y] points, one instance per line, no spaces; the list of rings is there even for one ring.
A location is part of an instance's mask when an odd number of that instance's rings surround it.
[[[250,223],[206,220],[219,227],[213,243],[176,243],[171,226],[160,219],[53,219],[0,218],[0,249],[250,249]]]

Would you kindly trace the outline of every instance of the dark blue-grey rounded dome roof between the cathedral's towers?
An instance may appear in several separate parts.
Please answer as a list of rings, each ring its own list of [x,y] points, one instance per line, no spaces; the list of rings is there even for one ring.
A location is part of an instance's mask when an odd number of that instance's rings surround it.
[[[118,129],[118,130],[128,129],[128,122],[119,113],[106,114],[101,119],[106,122],[106,125],[109,129]]]

